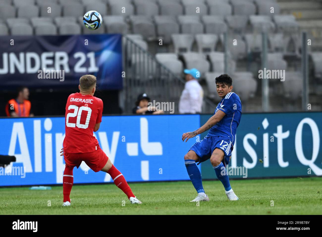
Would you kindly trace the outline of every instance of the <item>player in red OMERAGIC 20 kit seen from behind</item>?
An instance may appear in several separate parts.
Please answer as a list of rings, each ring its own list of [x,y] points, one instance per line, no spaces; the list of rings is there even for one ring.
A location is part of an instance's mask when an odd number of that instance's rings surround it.
[[[109,173],[115,183],[132,204],[141,202],[134,196],[124,176],[111,163],[109,157],[99,147],[93,132],[99,130],[102,121],[103,101],[95,96],[96,77],[84,75],[78,86],[80,92],[70,94],[65,113],[65,139],[61,156],[65,159],[63,175],[63,206],[70,206],[73,186],[73,168],[84,161],[93,171]]]

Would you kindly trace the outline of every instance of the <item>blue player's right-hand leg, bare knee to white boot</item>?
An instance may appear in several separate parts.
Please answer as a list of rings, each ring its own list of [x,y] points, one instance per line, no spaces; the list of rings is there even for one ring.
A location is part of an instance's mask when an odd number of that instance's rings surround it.
[[[238,200],[238,197],[236,196],[234,191],[232,191],[232,187],[230,186],[230,182],[229,182],[228,173],[222,162],[224,156],[225,156],[225,153],[223,152],[223,150],[219,148],[215,148],[210,157],[210,162],[213,165],[213,169],[215,170],[217,178],[222,182],[225,188],[225,193],[228,199],[232,201],[236,201]]]

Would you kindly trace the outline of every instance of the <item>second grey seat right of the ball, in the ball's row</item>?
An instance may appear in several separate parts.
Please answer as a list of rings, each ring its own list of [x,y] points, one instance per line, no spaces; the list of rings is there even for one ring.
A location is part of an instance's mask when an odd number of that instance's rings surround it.
[[[130,16],[133,34],[140,34],[145,40],[153,40],[156,37],[155,26],[147,16]]]

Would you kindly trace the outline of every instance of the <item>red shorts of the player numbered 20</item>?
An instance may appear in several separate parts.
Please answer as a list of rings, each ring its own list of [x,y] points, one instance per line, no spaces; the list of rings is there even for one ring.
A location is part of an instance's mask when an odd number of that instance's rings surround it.
[[[100,147],[97,150],[87,153],[66,153],[64,151],[64,160],[67,166],[78,168],[84,161],[93,171],[99,172],[109,160],[109,157]]]

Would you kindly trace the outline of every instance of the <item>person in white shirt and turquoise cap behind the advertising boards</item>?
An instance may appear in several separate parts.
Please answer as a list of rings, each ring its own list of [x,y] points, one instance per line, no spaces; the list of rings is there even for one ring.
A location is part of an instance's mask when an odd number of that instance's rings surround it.
[[[197,79],[200,72],[196,68],[185,69],[185,89],[182,91],[179,101],[180,114],[201,113],[204,91]]]

